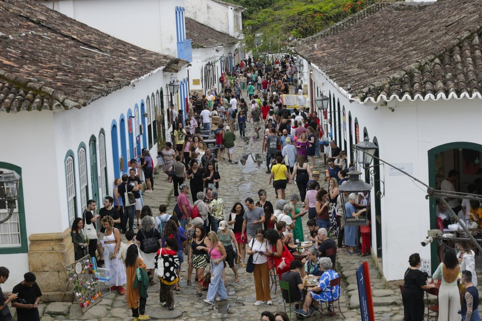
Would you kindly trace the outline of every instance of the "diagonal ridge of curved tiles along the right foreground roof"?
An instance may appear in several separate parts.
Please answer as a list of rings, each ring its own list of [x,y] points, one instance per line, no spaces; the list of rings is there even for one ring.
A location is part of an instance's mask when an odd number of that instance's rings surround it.
[[[378,96],[379,93],[383,91],[383,88],[386,86],[388,82],[393,82],[394,80],[400,80],[405,75],[410,73],[410,71],[412,72],[414,72],[415,70],[418,71],[420,70],[419,68],[425,65],[432,67],[435,64],[437,64],[436,61],[438,61],[438,64],[440,64],[440,61],[443,60],[442,56],[445,55],[445,53],[449,52],[450,50],[454,50],[459,46],[463,46],[463,43],[466,40],[472,38],[475,34],[479,34],[480,36],[482,36],[482,22],[479,22],[475,25],[475,30],[472,30],[472,31],[465,30],[461,36],[460,35],[456,36],[454,39],[452,39],[452,41],[448,42],[446,46],[439,47],[438,49],[434,50],[431,54],[420,59],[419,61],[414,62],[410,65],[407,65],[406,67],[399,69],[394,73],[383,77],[381,80],[375,83],[372,83],[367,87],[361,89],[359,91],[359,93],[361,94],[360,100],[366,101],[370,97]],[[377,94],[373,94],[373,90],[370,90],[372,94],[367,94],[368,89],[371,89],[371,88],[375,88],[375,89],[382,88],[382,90],[380,90],[380,92],[378,92]],[[376,99],[376,100],[378,101],[379,99]]]

